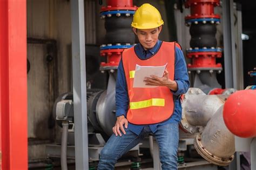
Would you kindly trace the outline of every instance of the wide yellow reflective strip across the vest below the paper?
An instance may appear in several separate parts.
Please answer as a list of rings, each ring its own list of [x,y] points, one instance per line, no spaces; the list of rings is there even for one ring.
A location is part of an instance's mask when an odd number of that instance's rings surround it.
[[[164,104],[164,99],[152,98],[149,100],[130,102],[130,109],[145,108],[150,106],[164,106]]]

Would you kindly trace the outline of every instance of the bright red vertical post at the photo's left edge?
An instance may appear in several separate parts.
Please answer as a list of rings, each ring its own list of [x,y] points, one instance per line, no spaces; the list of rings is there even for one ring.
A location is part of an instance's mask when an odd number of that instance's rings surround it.
[[[26,1],[0,2],[1,169],[28,169]]]

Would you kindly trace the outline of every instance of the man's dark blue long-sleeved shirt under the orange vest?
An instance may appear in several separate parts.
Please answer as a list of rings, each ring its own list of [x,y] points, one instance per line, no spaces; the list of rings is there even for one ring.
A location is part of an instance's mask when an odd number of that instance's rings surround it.
[[[137,44],[134,46],[134,50],[136,55],[140,59],[150,58],[154,53],[159,50],[161,45],[161,41],[158,40],[156,45],[150,49],[145,51],[141,44]],[[174,70],[174,80],[177,82],[178,90],[176,92],[172,91],[174,99],[174,112],[170,119],[164,121],[163,123],[151,124],[149,125],[151,131],[154,133],[157,130],[157,126],[169,124],[169,123],[179,123],[181,120],[181,103],[179,96],[187,92],[188,87],[190,86],[190,81],[188,79],[187,67],[183,52],[176,47],[175,49],[175,70]],[[116,81],[116,116],[124,115],[126,117],[126,113],[129,106],[129,95],[127,92],[127,85],[124,73],[124,67],[122,60],[120,60],[118,71],[117,71],[117,81]],[[137,135],[142,132],[145,125],[134,125],[128,123],[128,129]]]

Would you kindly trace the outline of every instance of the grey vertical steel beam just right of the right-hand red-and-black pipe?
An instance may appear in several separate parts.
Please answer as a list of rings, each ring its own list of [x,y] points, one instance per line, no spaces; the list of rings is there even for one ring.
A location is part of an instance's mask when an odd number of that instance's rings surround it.
[[[223,2],[223,39],[226,88],[237,89],[237,66],[235,60],[233,0]]]

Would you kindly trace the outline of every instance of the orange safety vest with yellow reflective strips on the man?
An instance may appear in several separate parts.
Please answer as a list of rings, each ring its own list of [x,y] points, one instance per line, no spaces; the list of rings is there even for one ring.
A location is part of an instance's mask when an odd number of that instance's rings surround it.
[[[169,72],[169,79],[174,79],[174,42],[162,42],[159,50],[148,59],[139,59],[134,47],[126,49],[122,53],[122,62],[129,93],[130,107],[126,118],[129,123],[136,125],[148,125],[161,123],[169,119],[174,111],[173,94],[168,87],[155,88],[133,87],[133,78],[136,64],[140,66],[163,66]]]

